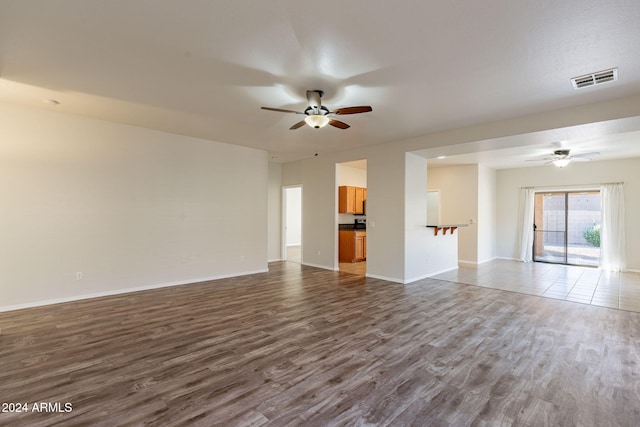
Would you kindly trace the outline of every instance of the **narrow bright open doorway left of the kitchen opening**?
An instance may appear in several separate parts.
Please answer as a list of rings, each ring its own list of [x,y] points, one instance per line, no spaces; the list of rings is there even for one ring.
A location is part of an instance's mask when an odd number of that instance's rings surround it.
[[[283,209],[283,258],[302,263],[302,187],[284,187]]]

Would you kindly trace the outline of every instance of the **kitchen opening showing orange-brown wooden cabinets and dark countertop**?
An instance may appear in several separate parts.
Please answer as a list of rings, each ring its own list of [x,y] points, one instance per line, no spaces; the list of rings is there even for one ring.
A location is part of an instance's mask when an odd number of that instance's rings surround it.
[[[367,160],[336,164],[338,269],[367,273]]]

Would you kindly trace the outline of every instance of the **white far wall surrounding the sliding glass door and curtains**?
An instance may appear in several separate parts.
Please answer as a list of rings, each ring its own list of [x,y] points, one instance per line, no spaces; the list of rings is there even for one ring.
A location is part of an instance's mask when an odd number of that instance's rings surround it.
[[[593,184],[605,182],[624,182],[627,267],[640,270],[640,225],[637,221],[640,218],[639,171],[640,158],[572,163],[562,169],[549,165],[497,171],[497,255],[517,258],[520,187],[567,190],[594,188]]]

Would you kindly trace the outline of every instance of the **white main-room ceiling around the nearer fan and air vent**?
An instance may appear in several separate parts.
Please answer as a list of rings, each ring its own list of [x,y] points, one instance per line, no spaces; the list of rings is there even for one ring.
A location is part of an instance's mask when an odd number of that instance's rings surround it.
[[[288,161],[638,94],[638,22],[638,0],[2,0],[0,101]],[[260,110],[303,110],[308,89],[373,111],[291,131],[300,116]],[[571,144],[604,158],[609,141]]]

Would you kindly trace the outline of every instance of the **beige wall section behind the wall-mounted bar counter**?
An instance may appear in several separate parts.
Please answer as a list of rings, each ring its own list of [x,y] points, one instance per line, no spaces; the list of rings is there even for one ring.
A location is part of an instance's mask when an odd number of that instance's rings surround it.
[[[473,224],[458,228],[460,262],[478,262],[478,165],[429,169],[428,187],[440,190],[440,223]]]

